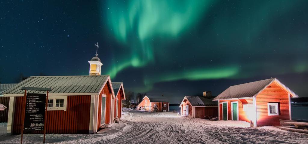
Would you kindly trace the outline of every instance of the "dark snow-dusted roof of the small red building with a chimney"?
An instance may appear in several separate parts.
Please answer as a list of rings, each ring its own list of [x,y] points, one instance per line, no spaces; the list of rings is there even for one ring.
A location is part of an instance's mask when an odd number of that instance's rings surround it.
[[[185,96],[192,106],[218,106],[217,101],[213,98],[205,98],[204,96]]]

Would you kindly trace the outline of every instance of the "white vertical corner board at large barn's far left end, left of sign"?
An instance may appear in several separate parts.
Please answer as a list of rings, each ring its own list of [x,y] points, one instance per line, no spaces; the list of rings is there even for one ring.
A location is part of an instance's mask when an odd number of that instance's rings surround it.
[[[14,114],[15,114],[15,101],[16,101],[16,98],[10,97],[9,114],[8,114],[8,118],[7,118],[7,128],[6,128],[7,135],[12,135],[13,134],[13,124],[14,124]]]

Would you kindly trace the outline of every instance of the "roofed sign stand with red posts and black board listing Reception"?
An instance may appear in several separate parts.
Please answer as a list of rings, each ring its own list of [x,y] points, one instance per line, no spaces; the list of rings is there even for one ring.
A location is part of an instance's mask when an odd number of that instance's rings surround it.
[[[23,133],[44,130],[44,140],[46,135],[46,116],[47,116],[47,103],[48,93],[51,88],[37,88],[37,87],[22,87],[25,90],[22,106],[22,126],[21,126],[21,139],[22,144]],[[27,90],[47,91],[47,94],[27,94]]]

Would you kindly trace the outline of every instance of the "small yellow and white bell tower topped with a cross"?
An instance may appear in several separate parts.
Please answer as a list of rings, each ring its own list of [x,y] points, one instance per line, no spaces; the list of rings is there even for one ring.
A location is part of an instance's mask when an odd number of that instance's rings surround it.
[[[96,43],[96,54],[95,57],[93,57],[90,61],[90,75],[100,75],[101,74],[101,67],[103,65],[102,62],[100,62],[100,59],[97,57],[97,49],[99,48],[98,43]]]

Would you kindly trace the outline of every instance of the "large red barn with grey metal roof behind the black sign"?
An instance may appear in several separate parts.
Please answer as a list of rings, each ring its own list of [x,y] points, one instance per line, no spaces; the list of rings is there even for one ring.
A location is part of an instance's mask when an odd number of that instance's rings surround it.
[[[109,75],[34,76],[3,92],[10,97],[8,134],[20,134],[22,100],[26,87],[51,87],[48,96],[46,133],[92,134],[113,122],[114,92]],[[28,90],[27,93],[46,93]]]

